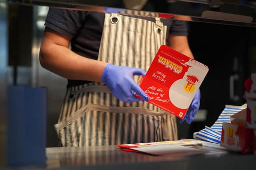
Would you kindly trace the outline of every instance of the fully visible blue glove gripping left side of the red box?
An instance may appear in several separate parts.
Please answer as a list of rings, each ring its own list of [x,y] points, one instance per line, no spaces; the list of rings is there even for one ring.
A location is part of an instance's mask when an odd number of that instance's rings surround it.
[[[112,94],[123,102],[138,102],[141,99],[134,96],[134,92],[148,102],[148,96],[134,81],[133,76],[146,75],[146,72],[139,68],[116,66],[108,64],[102,74],[102,82],[108,85]]]

